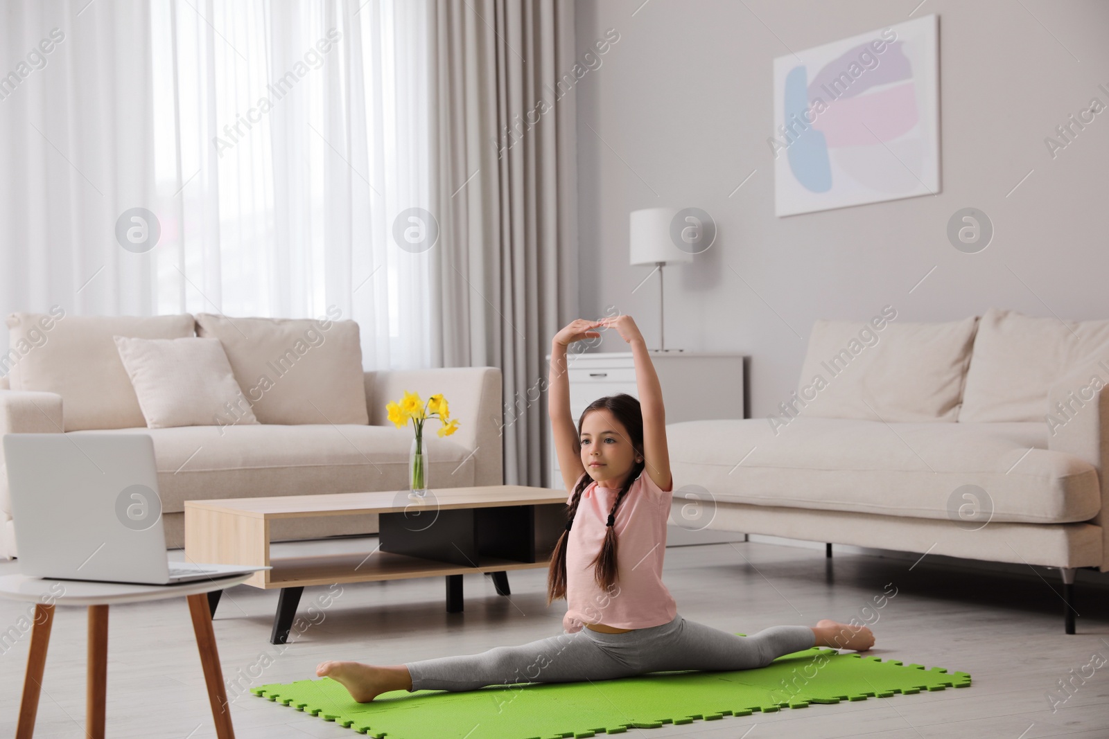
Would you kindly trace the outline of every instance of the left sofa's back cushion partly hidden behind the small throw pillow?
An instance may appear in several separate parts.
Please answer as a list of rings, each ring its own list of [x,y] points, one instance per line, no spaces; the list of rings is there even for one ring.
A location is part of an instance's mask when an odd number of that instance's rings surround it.
[[[63,316],[12,314],[10,346],[30,346],[11,368],[12,390],[62,397],[65,431],[145,427],[139,398],[120,360],[115,336],[176,339],[193,335],[193,317]]]

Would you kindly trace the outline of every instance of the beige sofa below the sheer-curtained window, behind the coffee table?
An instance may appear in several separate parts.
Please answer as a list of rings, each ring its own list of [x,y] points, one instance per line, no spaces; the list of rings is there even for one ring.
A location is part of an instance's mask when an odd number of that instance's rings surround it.
[[[197,316],[196,320],[203,319]],[[241,368],[248,366],[252,347],[263,346],[247,341],[245,335],[240,337],[245,320],[251,319],[233,319],[238,327],[231,327],[235,330],[220,337],[244,392],[257,376],[240,377]],[[431,486],[502,482],[500,370],[472,367],[363,372],[357,326],[350,321],[335,321],[330,335],[313,333],[314,346],[305,345],[308,348],[301,358],[289,355],[289,362],[299,362],[296,372],[287,374],[292,379],[276,383],[265,397],[271,415],[297,412],[298,399],[312,403],[307,420],[312,420],[313,409],[338,409],[327,410],[318,422],[267,423],[261,412],[263,406],[255,404],[262,421],[258,424],[145,428],[112,336],[180,338],[193,333],[193,321],[192,316],[14,315],[9,319],[12,350],[0,357],[0,369],[10,370],[0,379],[0,433],[149,433],[157,458],[159,493],[171,547],[184,544],[186,500],[404,490],[414,434],[410,427],[394,427],[385,408],[404,390],[419,392],[425,399],[442,393],[450,402],[450,417],[460,421],[459,429],[449,437],[435,433],[436,421],[425,430]],[[212,321],[207,325],[216,325]],[[49,329],[43,328],[45,325]],[[304,325],[286,321],[275,324],[272,330],[264,328],[269,330],[271,346],[279,347],[284,346],[282,331],[302,331]],[[340,331],[346,332],[346,339]],[[256,331],[245,328],[245,333],[254,338]],[[352,351],[357,357],[350,357]],[[260,359],[269,361],[278,355],[271,350]],[[356,381],[360,380],[357,392],[350,392],[349,387],[345,391],[350,398],[334,397],[339,392],[338,383],[328,379],[328,372],[337,362],[353,366]],[[297,388],[294,380],[311,381]],[[289,389],[296,392],[286,392],[283,398],[279,391]],[[305,391],[315,394],[303,396]],[[360,407],[346,407],[348,401]],[[282,402],[284,408],[276,406]],[[328,422],[338,414],[347,422]],[[366,515],[275,522],[273,536],[305,538],[376,532],[377,516]],[[17,553],[0,450],[0,555],[13,557]]]

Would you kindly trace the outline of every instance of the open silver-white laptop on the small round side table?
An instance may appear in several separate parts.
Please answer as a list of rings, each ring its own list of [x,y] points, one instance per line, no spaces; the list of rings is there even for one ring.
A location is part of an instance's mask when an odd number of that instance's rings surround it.
[[[10,433],[3,451],[24,575],[172,585],[268,568],[169,561],[147,434]]]

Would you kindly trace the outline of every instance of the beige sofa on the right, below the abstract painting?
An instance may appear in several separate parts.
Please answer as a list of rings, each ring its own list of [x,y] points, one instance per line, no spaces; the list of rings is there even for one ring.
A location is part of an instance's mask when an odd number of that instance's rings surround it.
[[[1109,321],[891,312],[817,321],[767,418],[669,424],[673,520],[1058,567],[1074,633],[1075,569],[1109,571]]]

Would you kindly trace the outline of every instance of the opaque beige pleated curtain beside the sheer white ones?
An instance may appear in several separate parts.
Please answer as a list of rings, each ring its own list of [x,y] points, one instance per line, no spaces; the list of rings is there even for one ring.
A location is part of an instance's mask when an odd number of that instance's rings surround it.
[[[505,483],[543,485],[546,355],[577,309],[573,3],[439,0],[434,346],[503,372]]]

